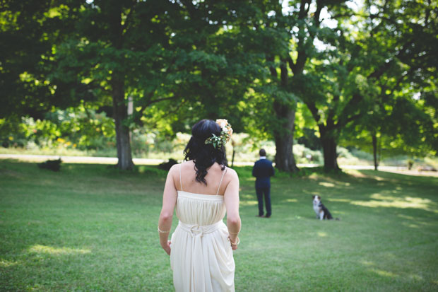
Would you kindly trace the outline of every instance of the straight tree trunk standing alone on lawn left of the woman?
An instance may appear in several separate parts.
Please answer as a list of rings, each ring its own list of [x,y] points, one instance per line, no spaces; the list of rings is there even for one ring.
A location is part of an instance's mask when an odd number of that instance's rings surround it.
[[[114,80],[115,79],[115,80]],[[114,111],[114,124],[116,125],[117,141],[117,167],[121,170],[131,170],[134,167],[131,156],[131,142],[129,127],[123,124],[128,117],[128,108],[124,103],[124,83],[113,76],[112,80],[112,106]]]

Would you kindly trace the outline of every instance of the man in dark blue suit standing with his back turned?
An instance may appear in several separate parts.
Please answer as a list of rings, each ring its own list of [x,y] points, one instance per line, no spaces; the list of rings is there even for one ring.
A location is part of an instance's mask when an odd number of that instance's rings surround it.
[[[275,171],[271,160],[266,159],[265,149],[260,149],[260,160],[254,163],[252,168],[252,176],[256,177],[256,194],[259,201],[258,217],[269,218],[272,214],[271,209],[271,176]],[[266,215],[264,215],[263,197],[265,197]]]

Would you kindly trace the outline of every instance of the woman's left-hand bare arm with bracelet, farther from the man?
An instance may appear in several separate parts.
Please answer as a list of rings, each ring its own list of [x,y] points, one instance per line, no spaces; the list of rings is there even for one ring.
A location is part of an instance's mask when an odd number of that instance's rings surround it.
[[[172,228],[172,217],[175,204],[177,203],[177,189],[174,184],[174,172],[177,171],[177,165],[173,165],[167,173],[165,189],[162,194],[162,208],[160,220],[158,221],[158,232],[160,233],[160,245],[170,255],[170,228]]]

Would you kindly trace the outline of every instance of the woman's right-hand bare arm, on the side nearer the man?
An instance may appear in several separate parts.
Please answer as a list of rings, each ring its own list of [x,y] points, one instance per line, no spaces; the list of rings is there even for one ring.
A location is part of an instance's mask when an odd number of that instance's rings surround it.
[[[230,170],[231,180],[225,189],[225,209],[227,209],[227,227],[230,233],[231,247],[237,250],[238,237],[240,232],[240,216],[239,216],[239,177],[235,170]]]

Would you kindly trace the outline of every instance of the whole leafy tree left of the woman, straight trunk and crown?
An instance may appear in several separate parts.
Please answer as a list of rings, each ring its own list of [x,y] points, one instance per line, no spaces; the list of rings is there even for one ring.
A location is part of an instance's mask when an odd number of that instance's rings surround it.
[[[128,96],[142,100],[143,109],[164,99],[155,93],[167,65],[162,49],[169,38],[166,8],[167,1],[83,3],[73,30],[56,47],[57,70],[50,76],[59,84],[56,95],[81,96],[77,90],[85,84],[103,104],[112,105],[122,170],[134,165]]]

